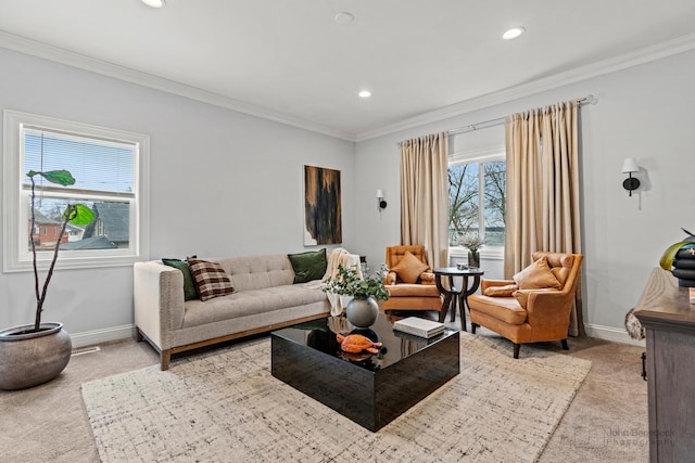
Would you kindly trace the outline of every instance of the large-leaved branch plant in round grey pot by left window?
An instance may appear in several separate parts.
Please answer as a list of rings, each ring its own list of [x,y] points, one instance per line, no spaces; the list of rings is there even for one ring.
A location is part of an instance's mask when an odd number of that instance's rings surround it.
[[[60,243],[63,240],[68,223],[85,226],[94,219],[91,209],[84,204],[68,204],[62,216],[60,235],[53,250],[43,285],[40,284],[37,263],[37,249],[34,240],[36,227],[35,213],[35,180],[36,176],[43,177],[51,183],[63,187],[72,185],[75,179],[67,170],[35,171],[29,170],[27,177],[31,180],[31,228],[29,241],[34,265],[34,291],[36,296],[36,317],[34,324],[14,326],[0,331],[0,389],[25,389],[47,383],[58,376],[70,362],[72,343],[70,335],[59,322],[41,323],[43,304],[48,295],[49,283],[53,276]]]

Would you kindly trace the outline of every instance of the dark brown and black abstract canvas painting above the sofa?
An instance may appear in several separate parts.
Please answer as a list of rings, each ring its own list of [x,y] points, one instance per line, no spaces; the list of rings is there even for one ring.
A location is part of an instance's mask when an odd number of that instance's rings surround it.
[[[343,241],[340,170],[304,166],[304,244]]]

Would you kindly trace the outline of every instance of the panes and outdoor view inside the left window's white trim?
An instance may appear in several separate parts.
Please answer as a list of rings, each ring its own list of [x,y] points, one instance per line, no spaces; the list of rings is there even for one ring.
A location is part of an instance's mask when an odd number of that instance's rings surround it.
[[[70,170],[77,182],[56,187],[38,177],[34,217],[35,233],[27,241],[39,250],[87,250],[129,248],[132,192],[134,147],[88,137],[24,128],[24,171]],[[30,180],[25,177],[23,193],[27,195],[28,228],[31,223]],[[99,200],[97,200],[99,198]],[[81,203],[94,213],[94,221],[84,227],[68,224],[61,243],[61,217],[71,203]]]

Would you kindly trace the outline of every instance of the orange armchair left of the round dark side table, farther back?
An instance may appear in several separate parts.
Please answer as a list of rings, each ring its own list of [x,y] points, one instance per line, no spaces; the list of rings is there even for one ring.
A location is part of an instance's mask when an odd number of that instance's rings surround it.
[[[389,273],[383,284],[391,294],[383,310],[442,309],[442,298],[434,284],[434,273],[420,245],[387,247]]]

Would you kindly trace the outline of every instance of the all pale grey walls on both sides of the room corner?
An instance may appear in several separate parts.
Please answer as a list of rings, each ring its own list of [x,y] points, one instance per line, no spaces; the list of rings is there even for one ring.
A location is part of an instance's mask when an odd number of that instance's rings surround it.
[[[592,93],[598,104],[581,110],[584,318],[590,333],[603,334],[622,329],[662,250],[681,239],[680,227],[695,229],[693,81],[695,52],[687,52],[355,147],[0,49],[0,108],[151,137],[151,258],[303,250],[302,166],[309,164],[342,171],[343,245],[376,268],[386,246],[401,240],[396,142]],[[459,141],[479,144],[459,138],[456,150]],[[621,187],[628,156],[645,169],[633,197]],[[377,189],[389,202],[381,215]],[[132,322],[129,267],[59,271],[54,279],[45,320],[63,321],[73,334]],[[31,322],[31,288],[30,273],[0,274],[0,327]]]

